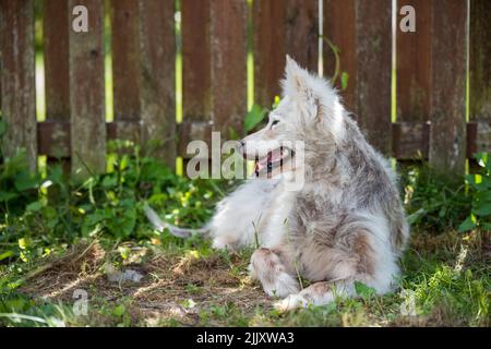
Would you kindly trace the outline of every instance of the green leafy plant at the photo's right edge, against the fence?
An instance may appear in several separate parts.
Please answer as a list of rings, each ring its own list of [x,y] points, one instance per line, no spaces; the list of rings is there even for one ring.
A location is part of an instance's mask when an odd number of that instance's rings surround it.
[[[466,176],[472,207],[470,215],[458,227],[459,231],[475,228],[491,230],[491,155],[477,153],[475,158],[480,166],[480,171]]]

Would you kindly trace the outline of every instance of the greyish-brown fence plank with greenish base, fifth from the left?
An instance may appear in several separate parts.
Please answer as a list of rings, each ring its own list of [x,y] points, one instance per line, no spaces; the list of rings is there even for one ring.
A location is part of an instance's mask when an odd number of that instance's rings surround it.
[[[140,103],[146,153],[176,164],[175,2],[140,0]]]

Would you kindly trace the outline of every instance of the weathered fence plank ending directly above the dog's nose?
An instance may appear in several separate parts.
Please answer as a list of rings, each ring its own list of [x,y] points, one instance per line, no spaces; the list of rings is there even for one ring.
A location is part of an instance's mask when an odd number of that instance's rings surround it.
[[[247,111],[247,3],[214,0],[211,10],[213,123],[226,140],[230,128],[242,133]]]

